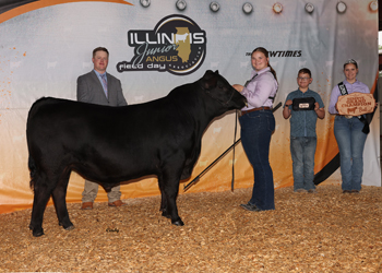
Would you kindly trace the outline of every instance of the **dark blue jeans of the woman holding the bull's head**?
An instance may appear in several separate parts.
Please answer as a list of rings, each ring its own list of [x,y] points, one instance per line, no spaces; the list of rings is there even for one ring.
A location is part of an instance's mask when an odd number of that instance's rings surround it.
[[[253,167],[254,183],[250,204],[260,210],[275,209],[273,173],[270,165],[270,144],[275,130],[272,110],[248,112],[239,118],[241,143]]]

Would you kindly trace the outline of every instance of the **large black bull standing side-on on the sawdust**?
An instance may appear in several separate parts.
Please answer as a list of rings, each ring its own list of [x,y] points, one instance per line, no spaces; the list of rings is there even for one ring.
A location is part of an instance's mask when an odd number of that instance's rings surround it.
[[[205,128],[215,117],[244,104],[240,93],[210,70],[166,97],[139,105],[108,107],[38,99],[26,126],[34,189],[33,235],[44,235],[43,216],[50,195],[59,225],[74,227],[65,203],[72,170],[106,190],[121,181],[156,175],[162,215],[183,225],[176,204],[179,180],[191,176]]]

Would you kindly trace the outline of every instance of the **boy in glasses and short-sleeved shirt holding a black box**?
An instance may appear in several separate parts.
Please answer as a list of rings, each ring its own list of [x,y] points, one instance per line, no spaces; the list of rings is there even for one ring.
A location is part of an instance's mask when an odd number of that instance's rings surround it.
[[[317,193],[313,182],[317,146],[315,123],[318,117],[320,119],[325,117],[325,110],[320,95],[309,90],[309,84],[312,81],[310,70],[307,68],[300,69],[297,78],[298,90],[288,94],[283,110],[285,119],[291,116],[290,154],[295,192]],[[302,98],[303,100],[298,103],[296,98]],[[294,100],[295,105],[293,107]]]

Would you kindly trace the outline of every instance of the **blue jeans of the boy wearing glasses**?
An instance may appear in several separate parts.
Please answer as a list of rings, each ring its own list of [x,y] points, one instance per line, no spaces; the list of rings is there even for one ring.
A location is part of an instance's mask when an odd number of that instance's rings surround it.
[[[315,136],[290,136],[290,154],[295,180],[294,190],[315,189],[313,182],[315,146]]]

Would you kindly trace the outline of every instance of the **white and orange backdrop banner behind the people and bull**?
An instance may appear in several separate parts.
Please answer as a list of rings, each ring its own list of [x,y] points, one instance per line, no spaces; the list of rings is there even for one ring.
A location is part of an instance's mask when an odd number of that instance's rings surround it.
[[[252,70],[251,52],[259,46],[270,51],[277,72],[275,105],[284,104],[288,93],[297,90],[298,70],[309,68],[310,88],[321,95],[327,109],[332,88],[345,79],[343,64],[350,58],[359,64],[357,79],[372,93],[377,88],[377,1],[186,0],[183,10],[177,8],[180,2],[0,1],[0,212],[33,203],[25,136],[32,104],[44,96],[75,100],[76,79],[93,69],[92,51],[98,46],[109,50],[107,71],[120,79],[130,105],[166,96],[206,70],[218,70],[230,84],[243,84]],[[274,185],[289,187],[289,120],[283,118],[282,109],[274,115],[270,153]],[[326,110],[317,123],[317,183],[341,183],[333,122]],[[234,143],[235,127],[234,111],[210,124],[192,177],[180,183],[180,194]],[[362,183],[381,186],[379,110],[370,129]],[[252,168],[239,143],[235,159],[229,152],[187,192],[230,190],[232,164],[235,188],[252,187]],[[83,186],[84,179],[72,173],[67,201],[81,202]],[[122,199],[159,194],[154,176],[123,182],[121,191]],[[104,190],[96,201],[107,201]]]

